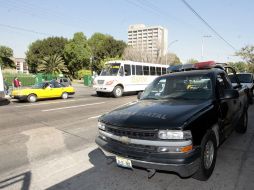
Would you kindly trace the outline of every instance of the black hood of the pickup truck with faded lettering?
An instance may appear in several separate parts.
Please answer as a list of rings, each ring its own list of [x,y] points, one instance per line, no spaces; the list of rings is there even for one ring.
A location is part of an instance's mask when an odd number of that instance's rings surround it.
[[[105,114],[99,120],[125,128],[183,129],[211,108],[212,100],[142,100]]]

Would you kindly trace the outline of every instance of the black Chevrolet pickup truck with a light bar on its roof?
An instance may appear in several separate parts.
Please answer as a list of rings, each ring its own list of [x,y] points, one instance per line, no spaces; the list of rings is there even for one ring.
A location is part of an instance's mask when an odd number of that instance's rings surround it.
[[[247,91],[232,86],[230,69],[199,63],[158,77],[140,100],[99,118],[96,143],[119,166],[207,180],[219,145],[247,130]]]

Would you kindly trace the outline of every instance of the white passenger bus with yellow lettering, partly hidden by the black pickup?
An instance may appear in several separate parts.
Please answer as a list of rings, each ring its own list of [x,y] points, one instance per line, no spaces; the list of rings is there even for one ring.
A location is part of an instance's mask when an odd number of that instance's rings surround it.
[[[112,93],[121,97],[124,92],[140,92],[156,77],[167,73],[168,65],[133,61],[109,61],[94,79],[93,88],[98,96]]]

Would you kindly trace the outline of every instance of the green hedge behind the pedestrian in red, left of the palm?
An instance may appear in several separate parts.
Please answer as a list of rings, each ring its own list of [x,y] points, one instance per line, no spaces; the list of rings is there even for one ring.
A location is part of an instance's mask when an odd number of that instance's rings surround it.
[[[12,86],[14,77],[18,77],[21,81],[22,86],[32,86],[36,83],[36,77],[30,74],[12,74],[12,73],[3,73],[5,81]]]

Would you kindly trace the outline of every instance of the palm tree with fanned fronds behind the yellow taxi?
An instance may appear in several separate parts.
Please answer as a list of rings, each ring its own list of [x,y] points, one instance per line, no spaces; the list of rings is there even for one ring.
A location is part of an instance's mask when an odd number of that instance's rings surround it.
[[[58,75],[67,73],[68,69],[64,64],[63,58],[60,55],[55,54],[41,59],[40,64],[38,65],[38,71]]]

